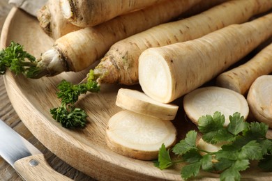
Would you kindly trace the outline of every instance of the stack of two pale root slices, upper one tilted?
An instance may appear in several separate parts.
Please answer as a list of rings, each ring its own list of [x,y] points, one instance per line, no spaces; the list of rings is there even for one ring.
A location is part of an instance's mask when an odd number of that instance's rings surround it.
[[[164,143],[170,148],[176,143],[176,127],[172,124],[179,107],[152,100],[144,93],[121,88],[116,105],[123,111],[107,123],[106,143],[114,152],[142,160],[158,158]]]

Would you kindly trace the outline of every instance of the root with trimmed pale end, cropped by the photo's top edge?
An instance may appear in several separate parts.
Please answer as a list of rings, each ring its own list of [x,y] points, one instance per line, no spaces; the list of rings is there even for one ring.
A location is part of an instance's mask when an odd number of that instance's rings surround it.
[[[133,10],[152,6],[166,0],[60,0],[63,17],[80,27],[96,26]]]

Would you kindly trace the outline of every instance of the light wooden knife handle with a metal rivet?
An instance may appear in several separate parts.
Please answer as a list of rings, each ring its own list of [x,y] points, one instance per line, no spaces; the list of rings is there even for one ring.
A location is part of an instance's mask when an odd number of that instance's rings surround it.
[[[71,180],[55,171],[47,163],[43,154],[31,155],[19,159],[15,162],[14,168],[24,180]]]

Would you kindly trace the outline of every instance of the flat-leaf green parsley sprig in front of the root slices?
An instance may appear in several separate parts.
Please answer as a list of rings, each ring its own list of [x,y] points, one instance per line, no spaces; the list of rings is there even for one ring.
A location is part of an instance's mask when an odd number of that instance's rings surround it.
[[[171,149],[181,159],[172,160],[170,150],[162,145],[155,166],[165,169],[186,162],[186,166],[181,168],[181,177],[185,180],[196,177],[200,170],[220,173],[220,180],[240,180],[240,171],[249,168],[251,160],[257,160],[259,168],[264,171],[272,171],[272,140],[266,138],[268,125],[247,123],[240,113],[229,116],[229,120],[229,125],[224,127],[225,116],[220,112],[202,116],[198,120],[202,139],[207,143],[222,144],[217,152],[198,148],[197,132],[192,130]]]

